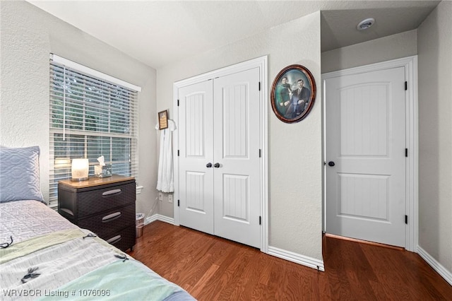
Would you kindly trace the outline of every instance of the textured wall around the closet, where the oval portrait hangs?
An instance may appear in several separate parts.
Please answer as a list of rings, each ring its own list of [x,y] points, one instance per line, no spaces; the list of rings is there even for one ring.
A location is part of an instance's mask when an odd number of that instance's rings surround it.
[[[319,91],[320,12],[157,69],[157,111],[169,109],[174,116],[175,81],[266,54],[268,92],[278,72],[290,64],[306,66]],[[270,246],[314,259],[322,259],[320,99],[318,93],[309,116],[295,124],[280,122],[268,104]],[[172,216],[172,204],[160,212]]]

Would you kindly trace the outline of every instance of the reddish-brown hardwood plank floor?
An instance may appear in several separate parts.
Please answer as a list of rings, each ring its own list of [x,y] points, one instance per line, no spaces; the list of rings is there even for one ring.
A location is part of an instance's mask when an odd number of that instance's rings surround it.
[[[419,255],[323,237],[325,272],[160,221],[129,253],[197,300],[452,300]]]

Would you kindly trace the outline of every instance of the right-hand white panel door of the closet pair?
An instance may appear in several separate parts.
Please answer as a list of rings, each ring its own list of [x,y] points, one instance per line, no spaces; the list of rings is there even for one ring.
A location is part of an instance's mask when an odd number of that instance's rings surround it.
[[[260,247],[258,68],[214,80],[215,235]]]

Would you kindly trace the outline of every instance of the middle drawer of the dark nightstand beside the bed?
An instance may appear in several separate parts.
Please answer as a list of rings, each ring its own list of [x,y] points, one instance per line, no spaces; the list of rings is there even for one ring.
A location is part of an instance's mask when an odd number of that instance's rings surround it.
[[[126,226],[133,224],[135,220],[135,204],[104,211],[96,216],[82,218],[78,221],[78,227],[89,229],[100,238],[110,232],[117,232]],[[133,224],[134,225],[134,224]]]

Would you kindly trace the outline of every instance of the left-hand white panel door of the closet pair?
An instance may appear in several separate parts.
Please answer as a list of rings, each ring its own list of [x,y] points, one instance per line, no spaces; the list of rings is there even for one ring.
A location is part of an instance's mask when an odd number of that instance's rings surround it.
[[[179,88],[179,222],[213,234],[213,86]]]

